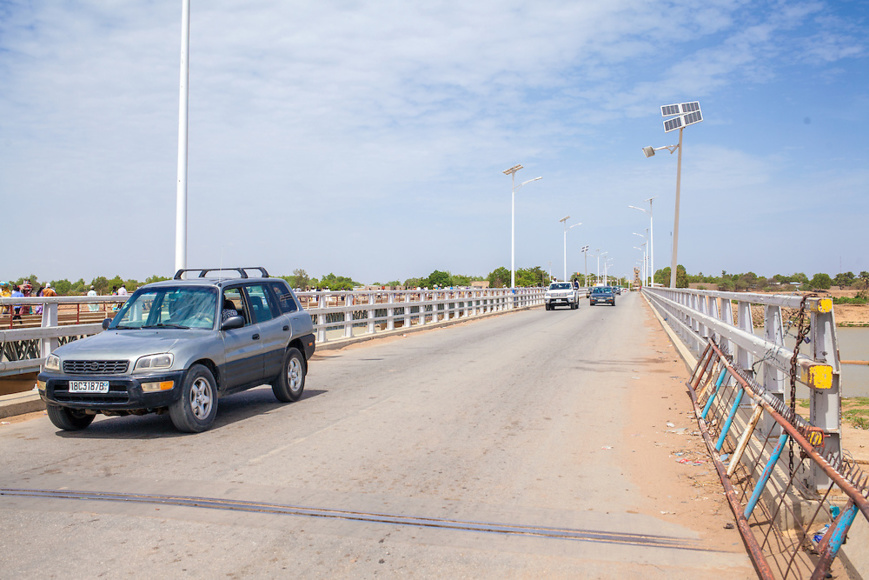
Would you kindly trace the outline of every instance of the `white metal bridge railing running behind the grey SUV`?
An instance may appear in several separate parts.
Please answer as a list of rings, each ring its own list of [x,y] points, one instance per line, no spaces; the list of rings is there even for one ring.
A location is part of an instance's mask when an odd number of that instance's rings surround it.
[[[543,304],[543,288],[455,290],[365,290],[297,292],[311,315],[317,341],[472,318]],[[2,314],[0,375],[38,371],[61,344],[102,332],[101,322],[127,296],[0,298],[0,313],[14,305],[42,306],[41,315],[12,320]],[[91,307],[94,310],[91,310]]]

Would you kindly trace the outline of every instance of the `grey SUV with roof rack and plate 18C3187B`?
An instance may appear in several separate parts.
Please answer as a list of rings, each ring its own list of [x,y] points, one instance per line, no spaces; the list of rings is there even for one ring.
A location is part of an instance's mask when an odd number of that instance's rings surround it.
[[[208,277],[230,270],[239,276]],[[99,413],[168,412],[179,431],[205,431],[224,395],[269,383],[278,400],[297,401],[314,354],[310,315],[265,268],[179,270],[136,290],[103,328],[55,350],[37,377],[60,429]]]

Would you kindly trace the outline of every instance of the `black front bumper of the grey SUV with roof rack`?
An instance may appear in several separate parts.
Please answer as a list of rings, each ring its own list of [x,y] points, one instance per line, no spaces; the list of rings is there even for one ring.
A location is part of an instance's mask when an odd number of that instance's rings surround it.
[[[36,377],[39,396],[48,405],[94,411],[136,411],[168,407],[181,398],[185,371],[148,375],[64,375],[39,373]],[[70,393],[70,381],[108,381],[108,393]],[[142,383],[172,381],[172,389],[146,392]]]

